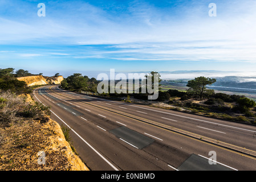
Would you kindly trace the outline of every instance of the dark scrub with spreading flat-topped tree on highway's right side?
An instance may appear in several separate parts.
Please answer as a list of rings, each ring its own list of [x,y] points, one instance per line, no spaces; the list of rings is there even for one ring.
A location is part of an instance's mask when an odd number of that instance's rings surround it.
[[[188,90],[185,92],[169,89],[165,93],[160,93],[165,96],[162,100],[160,96],[160,100],[175,106],[175,110],[256,125],[255,101],[245,96],[215,93],[214,90],[206,89],[206,85],[215,81],[211,78],[197,77],[188,81]]]

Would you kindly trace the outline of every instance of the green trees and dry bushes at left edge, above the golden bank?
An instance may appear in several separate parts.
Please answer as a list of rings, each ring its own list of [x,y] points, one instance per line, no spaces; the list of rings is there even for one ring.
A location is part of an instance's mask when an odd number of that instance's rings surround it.
[[[19,81],[17,76],[29,72],[14,68],[0,69],[0,126],[11,125],[21,118],[43,119],[50,115],[50,108],[38,102],[27,102],[26,95],[32,92],[25,81]]]

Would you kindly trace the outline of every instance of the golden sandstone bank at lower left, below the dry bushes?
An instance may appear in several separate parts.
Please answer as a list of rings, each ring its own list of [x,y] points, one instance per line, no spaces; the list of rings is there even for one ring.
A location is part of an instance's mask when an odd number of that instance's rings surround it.
[[[22,95],[34,102],[30,95]],[[44,154],[44,159],[39,154]],[[43,162],[44,163],[40,163]],[[47,115],[0,127],[0,171],[89,171],[64,137],[60,125]]]

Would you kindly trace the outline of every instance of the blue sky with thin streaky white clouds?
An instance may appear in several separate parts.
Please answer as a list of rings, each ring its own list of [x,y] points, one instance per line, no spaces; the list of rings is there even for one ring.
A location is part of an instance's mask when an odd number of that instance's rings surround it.
[[[0,68],[94,77],[112,68],[254,72],[255,7],[253,0],[1,0]]]

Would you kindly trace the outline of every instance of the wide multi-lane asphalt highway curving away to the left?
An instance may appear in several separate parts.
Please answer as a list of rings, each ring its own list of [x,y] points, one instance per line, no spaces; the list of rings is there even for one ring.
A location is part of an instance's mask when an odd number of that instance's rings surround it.
[[[256,127],[67,92],[34,90],[51,118],[71,128],[94,171],[256,170]]]

